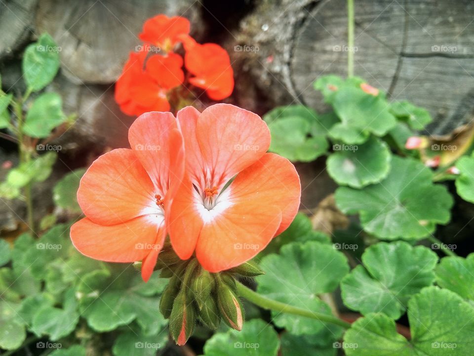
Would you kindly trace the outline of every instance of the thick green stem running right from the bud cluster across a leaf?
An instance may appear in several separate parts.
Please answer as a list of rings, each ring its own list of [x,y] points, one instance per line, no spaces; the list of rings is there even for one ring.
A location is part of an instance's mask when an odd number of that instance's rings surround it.
[[[252,302],[253,304],[263,309],[274,310],[277,312],[286,312],[289,314],[300,315],[300,316],[306,316],[306,317],[313,318],[322,322],[328,322],[335,325],[339,325],[345,329],[348,329],[351,327],[350,323],[344,320],[341,320],[335,316],[318,313],[318,312],[311,312],[302,308],[293,307],[288,304],[284,304],[281,302],[274,301],[272,299],[268,299],[258,294],[257,292],[254,292],[250,288],[244,286],[240,282],[237,282],[237,292],[241,297],[247,299],[249,302]]]

